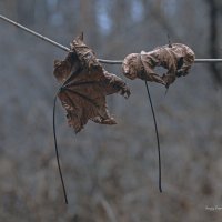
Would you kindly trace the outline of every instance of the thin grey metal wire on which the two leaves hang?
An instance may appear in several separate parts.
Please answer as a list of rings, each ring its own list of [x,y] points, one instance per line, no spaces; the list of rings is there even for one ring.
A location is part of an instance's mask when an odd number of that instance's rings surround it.
[[[0,19],[2,19],[4,21],[7,21],[7,22],[9,22],[9,23],[11,23],[11,24],[13,24],[13,26],[16,26],[16,27],[18,27],[18,28],[42,39],[42,40],[44,40],[46,42],[53,44],[54,47],[58,47],[58,48],[60,48],[64,51],[68,51],[68,52],[70,51],[69,48],[49,39],[48,37],[44,37],[44,36],[42,36],[42,34],[31,30],[31,29],[28,29],[27,27],[16,22],[16,21],[12,21],[11,19],[8,19],[7,17],[3,17],[3,16],[0,14]],[[122,64],[122,62],[123,62],[123,60],[105,60],[105,59],[98,59],[98,61],[101,62],[101,63],[105,63],[105,64]],[[195,63],[212,63],[212,62],[218,63],[218,62],[222,62],[222,59],[195,59],[194,62]]]

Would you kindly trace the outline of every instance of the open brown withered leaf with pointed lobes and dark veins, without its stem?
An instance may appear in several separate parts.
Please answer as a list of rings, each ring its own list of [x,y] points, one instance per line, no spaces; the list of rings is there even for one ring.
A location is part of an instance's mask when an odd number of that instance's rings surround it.
[[[71,50],[63,61],[54,61],[54,77],[62,83],[58,97],[67,111],[69,125],[77,133],[88,120],[115,124],[105,97],[118,92],[125,98],[130,95],[127,84],[98,62],[82,36],[71,42]]]

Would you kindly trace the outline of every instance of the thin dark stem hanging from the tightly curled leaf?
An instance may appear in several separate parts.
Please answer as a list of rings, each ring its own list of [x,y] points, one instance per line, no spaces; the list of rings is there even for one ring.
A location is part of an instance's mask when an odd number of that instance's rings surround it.
[[[150,107],[151,107],[154,127],[155,127],[155,137],[157,137],[157,142],[158,142],[158,163],[159,163],[159,191],[162,193],[160,140],[159,140],[158,124],[157,124],[157,120],[155,120],[155,112],[154,112],[154,109],[153,109],[152,99],[151,99],[151,94],[150,94],[150,90],[149,90],[147,80],[145,80],[145,89],[147,89],[147,92],[148,92],[148,98],[149,98],[149,101],[150,101]]]

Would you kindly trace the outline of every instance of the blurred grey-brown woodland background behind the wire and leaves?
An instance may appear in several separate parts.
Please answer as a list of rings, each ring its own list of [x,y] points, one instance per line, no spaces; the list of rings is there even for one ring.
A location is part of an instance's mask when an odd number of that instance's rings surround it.
[[[0,13],[69,47],[80,31],[98,58],[182,42],[222,57],[220,0],[1,0]],[[159,125],[163,193],[144,82],[108,98],[113,127],[74,134],[58,104],[57,132],[69,205],[53,147],[53,60],[65,52],[0,21],[0,221],[221,221],[222,65],[194,64],[170,88],[150,83]],[[78,215],[78,218],[77,218]]]

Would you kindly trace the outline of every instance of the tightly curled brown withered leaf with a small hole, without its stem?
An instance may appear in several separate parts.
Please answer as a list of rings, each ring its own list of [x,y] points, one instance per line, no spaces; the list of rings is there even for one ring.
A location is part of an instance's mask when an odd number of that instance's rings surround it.
[[[123,74],[132,80],[139,78],[169,88],[178,77],[189,73],[194,59],[194,52],[188,46],[172,43],[158,47],[150,52],[127,56],[122,69]],[[155,67],[163,67],[168,72],[161,77],[154,72]]]

